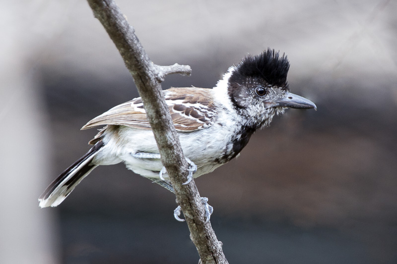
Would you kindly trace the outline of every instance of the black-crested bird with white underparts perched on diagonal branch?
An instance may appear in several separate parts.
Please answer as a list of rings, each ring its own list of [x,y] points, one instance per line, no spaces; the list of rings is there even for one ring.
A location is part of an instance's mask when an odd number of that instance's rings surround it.
[[[170,88],[165,101],[189,163],[188,184],[240,155],[250,137],[287,108],[317,110],[310,100],[290,93],[288,57],[268,48],[228,68],[211,88]],[[92,148],[64,170],[43,192],[39,206],[56,207],[95,167],[124,162],[128,169],[173,192],[141,98],[115,106],[81,129],[103,127]],[[202,198],[206,222],[212,207]],[[178,211],[179,210],[179,211]],[[174,212],[180,219],[180,207]]]

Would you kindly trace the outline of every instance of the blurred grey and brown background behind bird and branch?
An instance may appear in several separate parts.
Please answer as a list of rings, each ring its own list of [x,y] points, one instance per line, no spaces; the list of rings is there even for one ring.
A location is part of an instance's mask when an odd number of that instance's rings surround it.
[[[153,62],[192,66],[164,89],[270,47],[318,106],[196,180],[230,263],[397,263],[397,1],[117,2]],[[97,132],[79,129],[138,95],[86,1],[3,2],[0,31],[0,263],[197,263],[174,195],[123,164],[39,209]]]

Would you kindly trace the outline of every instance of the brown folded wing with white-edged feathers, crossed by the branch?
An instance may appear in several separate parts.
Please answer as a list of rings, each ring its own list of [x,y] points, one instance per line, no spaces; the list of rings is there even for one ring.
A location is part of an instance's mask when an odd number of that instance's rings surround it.
[[[171,88],[165,90],[164,95],[178,131],[189,132],[211,125],[215,112],[210,89]],[[100,125],[125,125],[138,129],[151,129],[140,98],[113,107],[89,121],[81,129]]]

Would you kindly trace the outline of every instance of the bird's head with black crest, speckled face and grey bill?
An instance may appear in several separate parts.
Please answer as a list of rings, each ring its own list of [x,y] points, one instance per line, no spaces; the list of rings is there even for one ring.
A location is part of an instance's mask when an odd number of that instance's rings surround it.
[[[225,74],[228,95],[248,126],[269,125],[273,116],[284,113],[287,107],[317,109],[310,100],[289,92],[288,69],[287,56],[270,49],[256,56],[249,55],[229,68]]]

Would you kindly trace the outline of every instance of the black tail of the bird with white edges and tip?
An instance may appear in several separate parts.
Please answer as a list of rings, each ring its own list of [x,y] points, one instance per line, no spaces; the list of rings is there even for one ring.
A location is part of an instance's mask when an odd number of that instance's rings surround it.
[[[83,157],[71,164],[62,172],[43,192],[39,198],[39,206],[56,207],[61,204],[66,197],[73,191],[74,187],[80,183],[96,166],[91,161],[95,154],[103,147],[103,142],[99,141]]]

